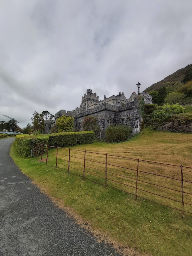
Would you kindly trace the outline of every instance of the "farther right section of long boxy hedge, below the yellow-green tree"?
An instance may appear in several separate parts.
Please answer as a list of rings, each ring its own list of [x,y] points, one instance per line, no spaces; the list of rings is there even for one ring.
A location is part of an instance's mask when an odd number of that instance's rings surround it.
[[[94,132],[60,132],[49,134],[49,146],[75,146],[78,144],[90,144],[94,142]]]

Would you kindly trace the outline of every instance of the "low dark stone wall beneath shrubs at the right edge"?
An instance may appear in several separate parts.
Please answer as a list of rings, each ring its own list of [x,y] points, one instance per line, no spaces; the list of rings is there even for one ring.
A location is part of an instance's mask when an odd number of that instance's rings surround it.
[[[158,130],[169,131],[169,132],[188,132],[192,133],[192,122],[187,121],[184,124],[181,122],[166,122],[164,125],[160,126]]]

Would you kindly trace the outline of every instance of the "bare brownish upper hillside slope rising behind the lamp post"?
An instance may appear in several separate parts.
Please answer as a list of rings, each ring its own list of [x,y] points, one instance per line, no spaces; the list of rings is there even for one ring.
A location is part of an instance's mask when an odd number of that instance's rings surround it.
[[[150,87],[146,88],[144,92],[156,91],[159,90],[163,86],[169,86],[172,88],[172,91],[178,90],[183,84],[182,80],[184,79],[186,72],[188,70],[192,70],[192,64],[187,65],[185,68],[181,68],[174,72],[173,74],[167,76],[160,82],[152,84]]]

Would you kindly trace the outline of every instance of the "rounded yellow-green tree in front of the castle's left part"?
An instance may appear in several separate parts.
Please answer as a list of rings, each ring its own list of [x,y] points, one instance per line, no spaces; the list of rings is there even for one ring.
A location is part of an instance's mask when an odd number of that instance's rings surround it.
[[[56,124],[58,125],[58,132],[72,132],[74,130],[74,117],[60,116]]]

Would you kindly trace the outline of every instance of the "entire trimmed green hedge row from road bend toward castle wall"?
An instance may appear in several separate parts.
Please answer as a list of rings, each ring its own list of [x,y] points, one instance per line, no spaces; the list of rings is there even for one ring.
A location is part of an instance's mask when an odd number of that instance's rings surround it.
[[[36,143],[49,145],[49,146],[75,146],[78,144],[90,144],[94,142],[94,132],[84,131],[84,132],[60,132],[53,134],[40,134],[40,135],[30,135],[22,136],[17,135],[15,139],[15,145],[17,152],[21,156],[31,156],[32,146]],[[43,146],[43,150],[47,147]],[[41,153],[41,148],[38,149],[38,154]]]

